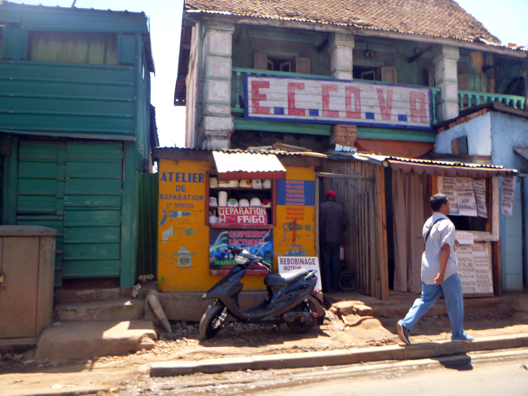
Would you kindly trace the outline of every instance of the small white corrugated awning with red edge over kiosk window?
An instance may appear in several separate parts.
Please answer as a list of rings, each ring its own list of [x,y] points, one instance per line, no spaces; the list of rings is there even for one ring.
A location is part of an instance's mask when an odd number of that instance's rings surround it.
[[[285,179],[286,169],[275,154],[213,152],[218,180]]]

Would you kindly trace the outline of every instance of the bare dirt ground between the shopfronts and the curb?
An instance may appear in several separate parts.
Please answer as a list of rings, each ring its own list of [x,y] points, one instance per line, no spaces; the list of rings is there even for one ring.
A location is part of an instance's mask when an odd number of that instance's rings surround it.
[[[520,304],[512,304],[512,299],[509,299],[505,305],[469,309],[464,324],[467,333],[475,337],[528,333],[528,295],[517,297]],[[400,300],[394,304],[410,307],[412,300]],[[0,360],[0,389],[5,396],[65,390],[110,390],[120,394],[125,389],[127,394],[139,394],[140,378],[148,373],[149,363],[157,361],[324,351],[400,343],[395,331],[399,317],[342,315],[335,305],[328,307],[322,325],[304,335],[291,333],[286,325],[228,323],[212,340],[201,341],[197,323],[175,322],[172,324],[173,333],[159,334],[159,341],[151,351],[75,361],[35,361],[32,359],[33,351],[12,356],[11,359],[3,356]],[[411,341],[447,340],[449,332],[450,324],[446,315],[423,317],[413,328]],[[182,386],[186,381],[194,383],[200,377],[196,375],[182,377],[178,383]],[[239,376],[243,380],[247,373]],[[132,392],[130,386],[136,386],[137,389],[134,388]]]

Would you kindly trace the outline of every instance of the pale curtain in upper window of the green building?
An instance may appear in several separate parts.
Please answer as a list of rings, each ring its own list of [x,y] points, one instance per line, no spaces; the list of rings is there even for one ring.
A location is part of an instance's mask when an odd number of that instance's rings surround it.
[[[115,33],[31,32],[29,60],[82,64],[117,64]]]

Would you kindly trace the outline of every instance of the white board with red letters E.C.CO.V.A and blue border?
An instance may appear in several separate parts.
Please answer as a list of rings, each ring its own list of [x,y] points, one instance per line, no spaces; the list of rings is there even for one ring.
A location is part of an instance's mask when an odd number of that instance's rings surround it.
[[[244,98],[246,119],[432,129],[428,87],[246,74]]]

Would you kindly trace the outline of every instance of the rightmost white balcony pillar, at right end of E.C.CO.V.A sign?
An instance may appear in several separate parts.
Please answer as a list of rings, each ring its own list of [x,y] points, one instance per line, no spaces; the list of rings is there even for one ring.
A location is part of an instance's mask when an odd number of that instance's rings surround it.
[[[441,89],[440,98],[436,101],[438,122],[458,116],[458,58],[458,47],[450,45],[438,45],[433,55],[435,87]]]

